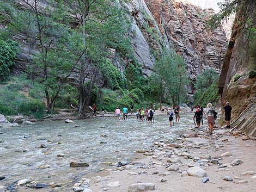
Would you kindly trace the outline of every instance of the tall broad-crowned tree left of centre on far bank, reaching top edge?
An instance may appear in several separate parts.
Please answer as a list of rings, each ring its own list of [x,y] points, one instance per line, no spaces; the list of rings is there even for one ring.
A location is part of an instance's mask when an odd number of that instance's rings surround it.
[[[114,0],[64,0],[66,6],[75,15],[78,23],[78,47],[84,50],[78,71],[79,102],[78,117],[86,115],[90,102],[90,94],[102,65],[108,65],[109,47],[123,41],[127,32],[127,22],[124,22],[123,11]],[[102,72],[102,71],[101,71]],[[106,71],[103,71],[103,75]],[[89,77],[90,75],[90,77]],[[89,86],[85,86],[89,77]]]

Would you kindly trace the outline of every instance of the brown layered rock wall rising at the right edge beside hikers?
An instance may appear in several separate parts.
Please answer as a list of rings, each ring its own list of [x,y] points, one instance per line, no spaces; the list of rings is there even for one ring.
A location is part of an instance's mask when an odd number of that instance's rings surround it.
[[[250,54],[253,40],[248,36],[248,26],[239,21],[241,11],[236,14],[237,22],[233,26],[228,51],[225,54],[220,79],[218,82],[222,105],[229,101],[233,110],[231,127],[256,137],[256,77],[249,77],[249,72],[255,67],[255,55]],[[248,11],[256,27],[256,17]],[[255,69],[254,69],[255,70]],[[224,119],[224,117],[223,117]],[[224,125],[224,121],[220,121]]]

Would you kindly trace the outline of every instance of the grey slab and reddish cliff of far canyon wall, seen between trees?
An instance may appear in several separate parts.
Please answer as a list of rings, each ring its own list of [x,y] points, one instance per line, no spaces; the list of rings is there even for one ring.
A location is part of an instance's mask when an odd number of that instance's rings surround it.
[[[17,2],[22,3],[19,0]],[[176,0],[119,0],[119,4],[127,10],[131,20],[130,38],[135,57],[142,64],[145,76],[149,77],[152,72],[155,63],[153,53],[170,47],[174,47],[184,57],[193,83],[197,75],[208,67],[220,71],[220,63],[227,50],[227,38],[222,28],[214,32],[206,30],[206,20],[214,13],[213,10],[202,10]],[[13,69],[15,74],[23,73],[33,65],[32,57],[36,54],[36,47],[31,47],[25,36],[20,34],[16,38],[23,42],[24,47],[17,55]],[[121,71],[131,62],[126,61],[123,66],[118,60],[113,55],[113,64]],[[71,76],[74,79],[76,77],[76,73]],[[190,92],[193,91],[193,83]],[[103,84],[104,80],[101,80],[99,85]]]

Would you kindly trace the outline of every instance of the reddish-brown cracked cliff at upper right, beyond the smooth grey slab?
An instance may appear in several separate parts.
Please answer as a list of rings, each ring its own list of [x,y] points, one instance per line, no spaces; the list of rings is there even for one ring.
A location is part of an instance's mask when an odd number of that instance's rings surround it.
[[[214,32],[206,29],[213,10],[179,1],[147,0],[147,3],[162,34],[168,36],[176,52],[185,58],[192,80],[209,67],[220,72],[228,40],[222,27]]]

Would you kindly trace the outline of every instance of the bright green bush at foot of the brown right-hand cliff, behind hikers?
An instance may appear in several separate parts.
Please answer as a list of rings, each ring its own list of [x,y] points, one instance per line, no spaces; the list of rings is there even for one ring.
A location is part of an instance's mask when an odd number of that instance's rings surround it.
[[[196,91],[195,95],[197,95],[197,100],[194,101],[195,104],[200,103],[201,106],[206,106],[208,103],[212,103],[215,106],[218,100],[220,100],[220,96],[218,95],[218,81],[216,80],[212,83],[203,94]]]

